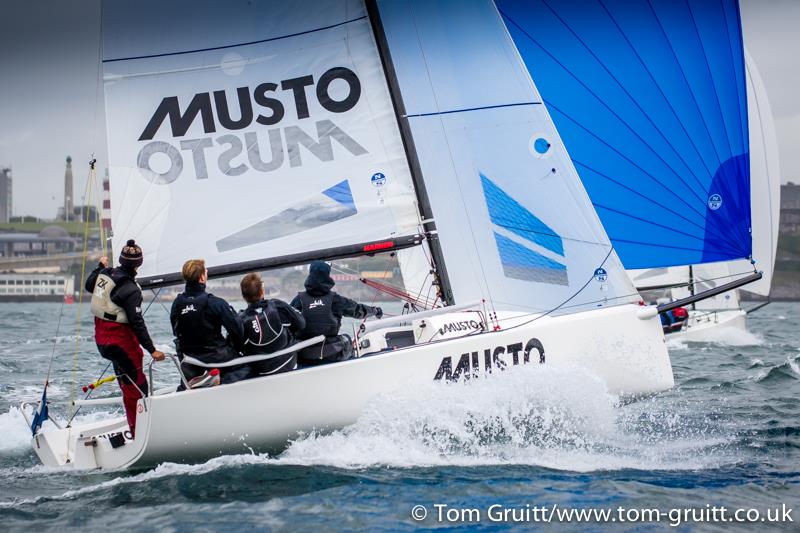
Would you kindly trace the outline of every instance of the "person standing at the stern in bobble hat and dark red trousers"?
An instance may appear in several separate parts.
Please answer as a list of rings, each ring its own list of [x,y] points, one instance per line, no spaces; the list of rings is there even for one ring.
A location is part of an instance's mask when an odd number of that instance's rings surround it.
[[[147,394],[141,347],[156,361],[164,359],[164,354],[153,345],[142,316],[142,290],[135,280],[142,259],[142,249],[131,239],[122,248],[120,266],[109,268],[108,258],[100,258],[85,285],[92,293],[97,349],[114,366],[131,436],[136,434],[136,402]]]

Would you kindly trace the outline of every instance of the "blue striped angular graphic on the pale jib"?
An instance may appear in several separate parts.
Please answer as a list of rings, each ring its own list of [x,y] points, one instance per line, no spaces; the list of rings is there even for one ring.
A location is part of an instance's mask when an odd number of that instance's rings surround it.
[[[506,277],[568,285],[567,267],[557,259],[564,256],[561,238],[483,174],[481,185]]]

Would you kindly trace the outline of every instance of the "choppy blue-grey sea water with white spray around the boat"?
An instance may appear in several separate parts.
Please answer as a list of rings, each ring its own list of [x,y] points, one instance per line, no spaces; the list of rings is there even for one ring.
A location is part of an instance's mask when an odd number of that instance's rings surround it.
[[[17,407],[40,396],[53,350],[51,414],[65,413],[58,402],[72,394],[73,361],[78,385],[101,374],[88,309],[80,331],[77,309],[63,308],[54,343],[60,305],[0,304],[4,530],[800,529],[800,304],[771,304],[748,318],[749,333],[720,332],[718,343],[670,342],[675,388],[636,401],[588,374],[518,367],[377,398],[354,425],[302,438],[277,457],[115,473],[39,465]],[[147,317],[157,344],[167,344],[166,310],[153,304]],[[156,388],[175,379],[162,367]],[[104,387],[99,395],[116,392]],[[412,518],[417,505],[427,511],[421,521]],[[791,509],[794,522],[714,523],[712,507],[772,518]],[[544,524],[532,512],[539,508],[628,514],[582,525],[551,515]],[[504,509],[517,512],[495,521]],[[640,509],[664,515],[622,523]]]

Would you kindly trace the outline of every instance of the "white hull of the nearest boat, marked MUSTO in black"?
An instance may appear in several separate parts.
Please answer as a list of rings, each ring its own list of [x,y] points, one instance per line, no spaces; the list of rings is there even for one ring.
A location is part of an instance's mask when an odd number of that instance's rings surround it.
[[[530,315],[507,317],[500,331],[435,340],[231,385],[155,395],[140,400],[136,438],[124,446],[115,449],[108,440],[108,435],[127,429],[124,419],[116,419],[40,431],[34,449],[45,465],[76,469],[275,453],[303,432],[352,424],[379,394],[414,387],[437,375],[463,381],[472,372],[485,372],[487,362],[494,372],[502,364],[539,364],[538,349],[529,350],[528,357],[524,352],[526,345],[536,344],[533,339],[544,348],[544,364],[584,367],[613,392],[640,395],[673,386],[660,320],[652,307],[624,305],[530,320]],[[515,322],[518,327],[513,327]]]

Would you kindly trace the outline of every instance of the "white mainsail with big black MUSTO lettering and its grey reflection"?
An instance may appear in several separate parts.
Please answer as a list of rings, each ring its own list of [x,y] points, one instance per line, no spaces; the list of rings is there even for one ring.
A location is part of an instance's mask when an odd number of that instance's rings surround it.
[[[114,245],[142,245],[141,275],[417,232],[361,2],[109,2],[103,17]]]

